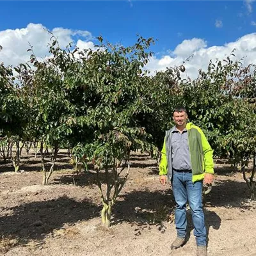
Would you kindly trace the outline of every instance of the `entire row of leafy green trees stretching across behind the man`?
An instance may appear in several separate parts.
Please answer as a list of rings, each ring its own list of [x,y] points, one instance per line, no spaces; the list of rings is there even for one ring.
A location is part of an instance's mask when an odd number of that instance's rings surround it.
[[[130,152],[147,151],[157,159],[164,131],[172,126],[172,109],[181,104],[207,134],[215,156],[240,166],[255,198],[254,65],[244,67],[232,52],[226,60],[211,61],[194,80],[184,78],[186,63],[150,76],[152,38],[139,37],[131,47],[98,40],[94,51],[61,49],[52,36],[50,58],[38,60],[31,47],[29,64],[0,63],[0,153],[12,159],[15,172],[21,148],[33,147],[47,185],[58,150],[69,148],[74,168],[93,163],[102,221],[109,226],[129,173]],[[101,172],[106,184],[100,182]]]

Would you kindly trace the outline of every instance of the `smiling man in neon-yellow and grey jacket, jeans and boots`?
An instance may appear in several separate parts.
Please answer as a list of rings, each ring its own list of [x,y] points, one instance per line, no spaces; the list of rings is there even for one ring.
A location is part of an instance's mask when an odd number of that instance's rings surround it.
[[[212,148],[202,130],[188,123],[187,111],[177,107],[173,111],[175,126],[166,131],[159,166],[162,185],[167,179],[172,182],[173,196],[176,202],[175,225],[177,238],[171,249],[185,244],[186,203],[192,212],[196,255],[207,256],[207,234],[202,209],[202,183],[211,184],[214,179]]]

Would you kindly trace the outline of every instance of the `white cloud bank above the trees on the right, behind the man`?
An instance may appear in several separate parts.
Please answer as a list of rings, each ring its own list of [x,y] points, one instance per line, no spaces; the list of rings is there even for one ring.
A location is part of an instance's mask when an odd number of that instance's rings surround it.
[[[230,42],[222,46],[207,47],[206,42],[199,38],[184,40],[177,45],[172,54],[165,55],[162,58],[153,56],[147,67],[154,74],[156,71],[165,70],[166,67],[182,65],[183,61],[193,54],[193,58],[185,63],[186,73],[189,77],[195,79],[198,76],[198,70],[207,70],[209,61],[223,60],[230,55],[233,49],[236,60],[244,58],[243,64],[256,64],[256,33],[244,35],[238,38],[236,42]]]

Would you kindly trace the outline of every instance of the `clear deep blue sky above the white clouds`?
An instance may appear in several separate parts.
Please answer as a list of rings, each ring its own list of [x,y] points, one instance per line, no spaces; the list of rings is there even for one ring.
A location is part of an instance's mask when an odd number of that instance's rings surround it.
[[[200,48],[221,47],[236,42],[242,36],[252,35],[256,31],[256,3],[253,0],[0,0],[0,6],[0,33],[6,29],[15,31],[27,28],[32,23],[42,24],[50,30],[64,28],[89,31],[93,37],[102,35],[114,44],[121,42],[132,45],[136,42],[137,34],[145,38],[152,36],[157,39],[152,51],[159,60],[164,56],[172,58],[173,52],[184,40],[198,38],[204,41],[205,44],[200,43],[197,51]],[[72,39],[77,40],[77,36],[79,37],[76,35]],[[90,40],[96,43],[93,38]]]

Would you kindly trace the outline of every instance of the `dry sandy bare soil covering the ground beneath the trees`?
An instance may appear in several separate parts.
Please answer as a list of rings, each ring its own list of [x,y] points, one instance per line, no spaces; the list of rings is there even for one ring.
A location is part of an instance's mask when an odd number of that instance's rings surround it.
[[[113,210],[111,228],[100,220],[95,177],[82,173],[73,183],[65,152],[49,186],[42,186],[40,159],[22,158],[21,172],[0,164],[0,254],[11,255],[196,255],[188,209],[188,242],[172,252],[176,237],[170,186],[161,186],[156,161],[131,157],[131,171]],[[205,196],[209,256],[256,255],[256,204],[248,200],[241,173],[225,161],[216,164],[216,180]],[[104,181],[104,177],[102,177]]]

